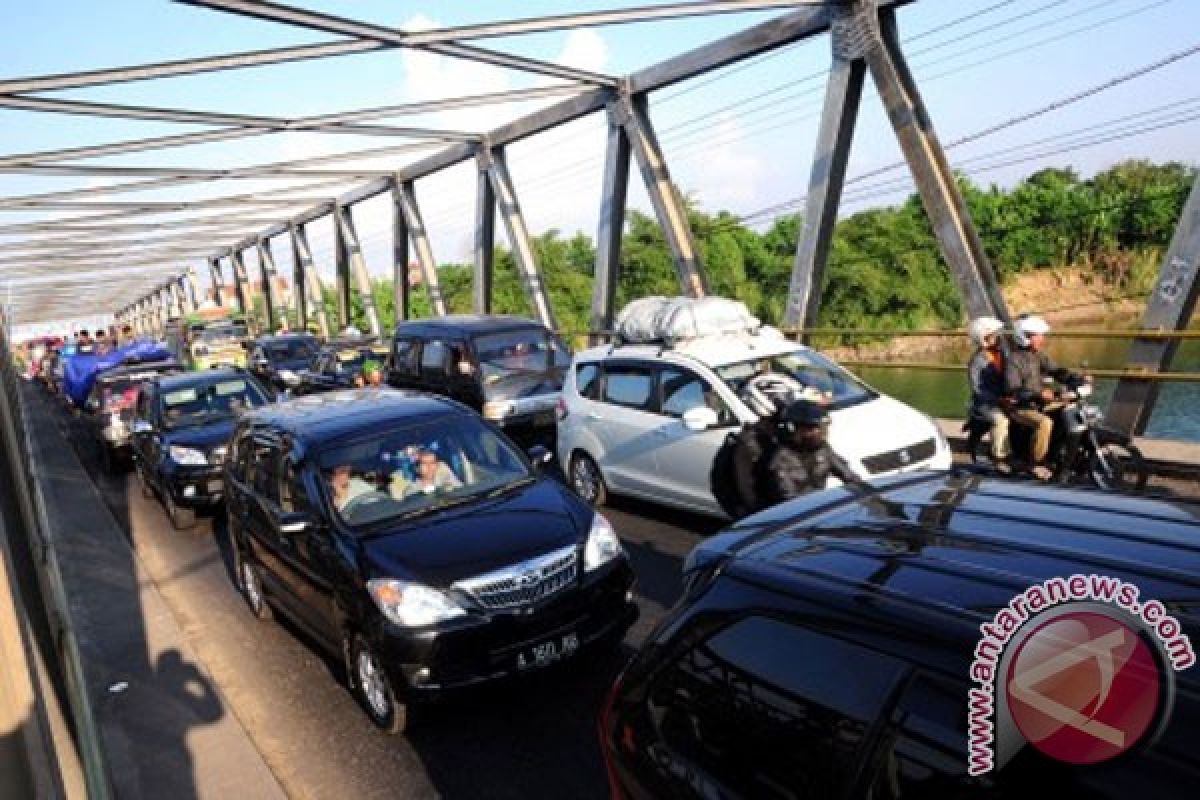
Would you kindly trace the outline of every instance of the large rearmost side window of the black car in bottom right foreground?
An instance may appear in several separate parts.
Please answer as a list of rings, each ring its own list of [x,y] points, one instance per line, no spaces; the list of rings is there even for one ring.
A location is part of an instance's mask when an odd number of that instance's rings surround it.
[[[748,616],[655,679],[649,758],[750,798],[847,796],[868,733],[906,666],[788,622]],[[703,794],[703,793],[702,793]]]

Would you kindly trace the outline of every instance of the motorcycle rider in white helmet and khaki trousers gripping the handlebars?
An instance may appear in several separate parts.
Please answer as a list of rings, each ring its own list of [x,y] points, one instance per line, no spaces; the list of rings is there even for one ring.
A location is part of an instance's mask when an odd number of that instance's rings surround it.
[[[1004,368],[1006,395],[1015,407],[1012,411],[1013,423],[1032,428],[1030,465],[1033,474],[1043,481],[1054,475],[1046,464],[1046,456],[1050,453],[1055,431],[1054,415],[1061,410],[1056,405],[1055,391],[1045,381],[1048,378],[1060,383],[1082,380],[1069,369],[1055,365],[1045,354],[1043,348],[1049,332],[1050,325],[1040,317],[1026,314],[1018,318],[1018,348],[1009,354]]]

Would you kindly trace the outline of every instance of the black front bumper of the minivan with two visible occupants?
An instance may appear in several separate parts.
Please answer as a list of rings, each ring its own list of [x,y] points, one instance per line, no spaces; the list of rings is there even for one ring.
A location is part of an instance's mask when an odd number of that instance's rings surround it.
[[[445,690],[538,672],[540,667],[521,668],[518,657],[542,643],[574,634],[583,650],[624,636],[638,614],[632,587],[634,571],[628,559],[620,559],[532,610],[472,614],[420,630],[379,616],[367,637],[391,685],[409,697],[430,699]],[[560,660],[570,661],[577,652]]]

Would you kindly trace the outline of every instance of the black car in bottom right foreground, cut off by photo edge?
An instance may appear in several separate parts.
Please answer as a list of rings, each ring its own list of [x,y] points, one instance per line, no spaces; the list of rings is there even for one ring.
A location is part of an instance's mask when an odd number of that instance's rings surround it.
[[[1026,602],[1068,579],[1094,599]],[[613,798],[1195,796],[1195,501],[908,474],[748,517],[684,584],[601,712]]]

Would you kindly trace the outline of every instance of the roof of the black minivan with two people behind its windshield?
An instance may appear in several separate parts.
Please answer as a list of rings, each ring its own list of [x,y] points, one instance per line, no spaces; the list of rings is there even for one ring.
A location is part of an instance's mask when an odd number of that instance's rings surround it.
[[[464,413],[458,403],[426,392],[395,389],[359,389],[306,395],[272,403],[246,414],[251,425],[265,425],[290,433],[307,446],[352,435],[364,428],[398,419],[444,416]]]

